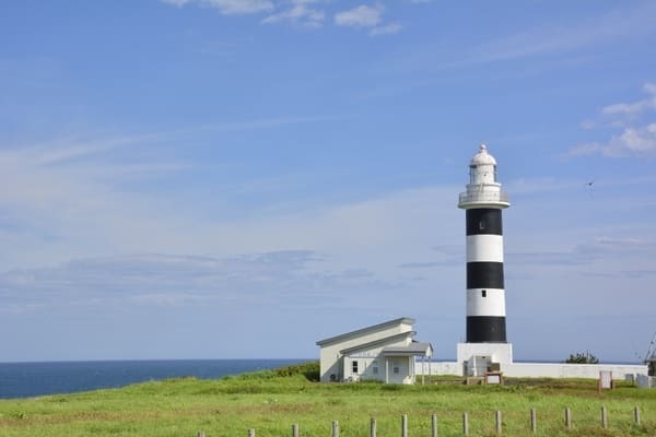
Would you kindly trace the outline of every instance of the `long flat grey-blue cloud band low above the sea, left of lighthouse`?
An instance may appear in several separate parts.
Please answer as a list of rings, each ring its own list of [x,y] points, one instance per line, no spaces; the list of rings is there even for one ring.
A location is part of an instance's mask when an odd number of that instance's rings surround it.
[[[51,268],[0,273],[2,312],[67,307],[198,306],[315,308],[349,299],[351,290],[397,290],[366,269],[321,269],[309,250],[230,258],[132,255],[82,258]],[[340,297],[341,296],[341,297]],[[364,305],[366,299],[358,305]],[[9,305],[11,304],[11,305]]]

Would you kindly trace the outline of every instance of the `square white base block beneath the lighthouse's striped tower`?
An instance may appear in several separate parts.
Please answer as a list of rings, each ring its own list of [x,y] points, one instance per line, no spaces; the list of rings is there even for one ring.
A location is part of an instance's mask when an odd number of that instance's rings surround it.
[[[488,371],[503,371],[513,364],[511,343],[458,343],[456,356],[462,366],[462,376],[483,376]]]

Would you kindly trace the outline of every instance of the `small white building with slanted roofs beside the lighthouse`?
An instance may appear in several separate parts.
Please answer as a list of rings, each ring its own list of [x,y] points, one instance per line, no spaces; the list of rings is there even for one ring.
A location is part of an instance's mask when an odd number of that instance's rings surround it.
[[[403,317],[318,341],[321,381],[414,383],[417,357],[425,364],[433,346],[414,340],[412,324],[414,319]],[[419,368],[430,373],[430,366]]]

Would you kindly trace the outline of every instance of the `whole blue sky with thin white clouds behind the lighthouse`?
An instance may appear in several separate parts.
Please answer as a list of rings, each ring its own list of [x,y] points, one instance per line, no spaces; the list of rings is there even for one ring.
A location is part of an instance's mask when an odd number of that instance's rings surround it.
[[[656,333],[653,1],[0,5],[0,362],[465,338],[458,193],[508,192],[516,361]]]

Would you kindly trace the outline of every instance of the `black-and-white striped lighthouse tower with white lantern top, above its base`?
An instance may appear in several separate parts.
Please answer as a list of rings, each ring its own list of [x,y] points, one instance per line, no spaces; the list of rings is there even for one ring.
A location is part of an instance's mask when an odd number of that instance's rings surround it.
[[[496,161],[481,144],[458,202],[467,216],[467,343],[506,343],[501,212],[509,205]]]

